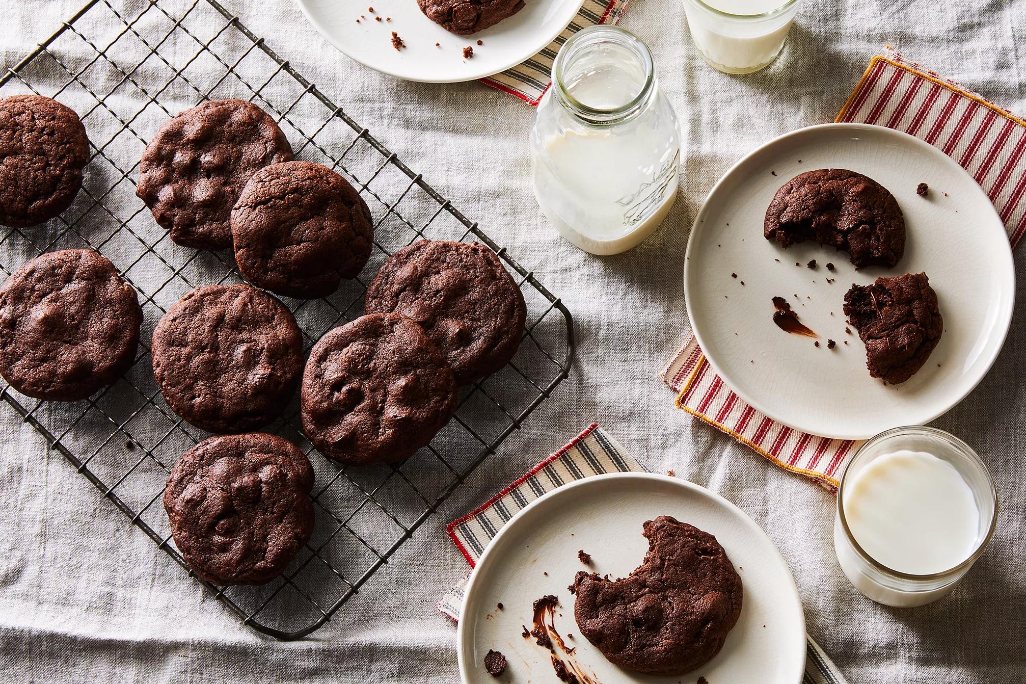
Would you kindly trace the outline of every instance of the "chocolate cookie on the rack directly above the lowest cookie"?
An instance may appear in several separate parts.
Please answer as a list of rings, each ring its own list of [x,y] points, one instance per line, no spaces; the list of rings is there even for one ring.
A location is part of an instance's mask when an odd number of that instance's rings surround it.
[[[284,411],[303,371],[303,335],[271,295],[204,286],[160,318],[152,353],[171,411],[210,432],[244,432]]]

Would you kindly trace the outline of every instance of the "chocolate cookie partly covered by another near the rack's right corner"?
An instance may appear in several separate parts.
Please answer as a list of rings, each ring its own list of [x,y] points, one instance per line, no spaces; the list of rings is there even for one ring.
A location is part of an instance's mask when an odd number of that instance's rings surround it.
[[[466,385],[509,363],[527,317],[523,295],[483,244],[421,240],[389,257],[370,281],[368,313],[412,318]]]

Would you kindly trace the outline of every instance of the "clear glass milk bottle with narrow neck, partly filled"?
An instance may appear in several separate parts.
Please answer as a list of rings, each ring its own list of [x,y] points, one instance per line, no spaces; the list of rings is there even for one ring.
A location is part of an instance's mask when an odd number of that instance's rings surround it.
[[[586,252],[626,252],[677,196],[680,132],[648,47],[613,26],[576,33],[552,65],[530,131],[535,197]]]

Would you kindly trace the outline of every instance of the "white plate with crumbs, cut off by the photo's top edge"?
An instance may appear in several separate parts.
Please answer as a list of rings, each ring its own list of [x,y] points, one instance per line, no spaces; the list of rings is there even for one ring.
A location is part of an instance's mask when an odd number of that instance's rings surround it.
[[[513,16],[471,36],[441,28],[424,15],[417,0],[297,2],[321,35],[360,64],[411,81],[452,83],[490,76],[532,56],[566,28],[584,0],[526,0]],[[393,31],[406,43],[404,49],[392,47]],[[478,40],[483,44],[478,46]],[[465,60],[468,45],[474,56]]]

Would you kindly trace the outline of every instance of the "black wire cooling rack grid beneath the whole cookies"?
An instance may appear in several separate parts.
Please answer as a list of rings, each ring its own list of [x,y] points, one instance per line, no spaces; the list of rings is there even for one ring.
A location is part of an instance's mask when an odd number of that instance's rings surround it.
[[[168,468],[206,433],[164,404],[146,342],[185,292],[241,278],[230,254],[171,242],[134,196],[143,148],[163,121],[207,99],[251,100],[278,120],[297,158],[336,168],[367,200],[376,248],[360,277],[322,300],[283,299],[308,351],[324,332],[362,313],[368,277],[389,254],[416,239],[481,241],[518,274],[528,311],[520,350],[507,368],[464,389],[457,417],[412,458],[371,467],[328,461],[303,436],[297,400],[268,428],[301,446],[314,465],[314,536],[269,584],[204,584],[260,632],[279,639],[312,633],[567,376],[569,311],[216,0],[91,0],[0,76],[0,97],[29,91],[79,113],[92,156],[82,192],[62,217],[0,233],[3,276],[44,252],[91,248],[140,293],[145,322],[131,370],[85,402],[38,402],[5,382],[0,394],[183,567],[161,496]]]

